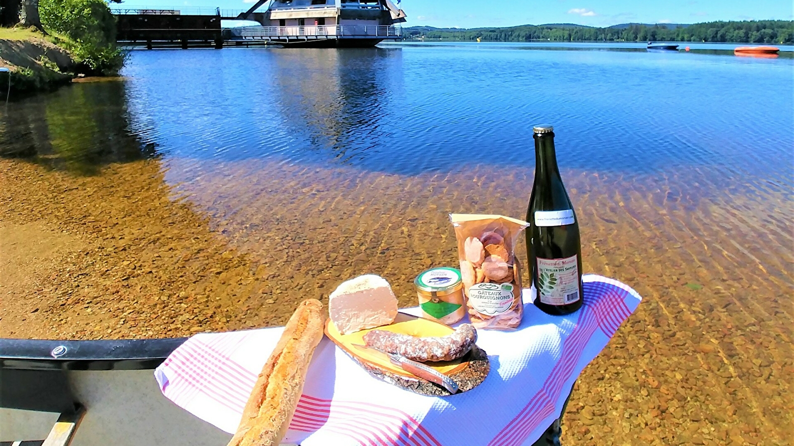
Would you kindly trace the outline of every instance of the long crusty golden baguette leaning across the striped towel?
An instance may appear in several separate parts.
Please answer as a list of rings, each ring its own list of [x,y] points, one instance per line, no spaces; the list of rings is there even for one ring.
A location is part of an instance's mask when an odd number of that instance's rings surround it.
[[[322,339],[322,303],[306,299],[292,314],[262,367],[228,446],[277,446],[298,405],[314,348]]]

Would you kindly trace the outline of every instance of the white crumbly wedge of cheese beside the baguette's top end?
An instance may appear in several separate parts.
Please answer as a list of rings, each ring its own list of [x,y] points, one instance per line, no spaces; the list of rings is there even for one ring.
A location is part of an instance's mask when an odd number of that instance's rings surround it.
[[[397,317],[397,298],[386,279],[360,275],[337,286],[328,298],[328,313],[339,333],[389,325]]]

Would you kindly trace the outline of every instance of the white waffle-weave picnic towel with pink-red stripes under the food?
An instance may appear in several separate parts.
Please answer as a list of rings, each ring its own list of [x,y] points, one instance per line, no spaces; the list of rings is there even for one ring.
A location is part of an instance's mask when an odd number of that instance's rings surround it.
[[[283,444],[303,446],[530,445],[560,417],[573,382],[641,298],[629,286],[584,275],[584,303],[549,316],[524,290],[522,325],[478,330],[491,371],[472,390],[428,397],[372,378],[324,338],[314,352]],[[414,313],[418,310],[413,309]],[[410,310],[401,310],[410,313]],[[234,433],[282,327],[191,337],[157,367],[163,394]]]

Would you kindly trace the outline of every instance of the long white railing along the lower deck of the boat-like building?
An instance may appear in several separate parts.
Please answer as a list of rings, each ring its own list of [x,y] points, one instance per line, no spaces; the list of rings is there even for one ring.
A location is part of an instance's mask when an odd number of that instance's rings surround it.
[[[306,25],[306,26],[247,26],[239,36],[243,39],[274,37],[383,37],[399,38],[403,29],[394,25]]]

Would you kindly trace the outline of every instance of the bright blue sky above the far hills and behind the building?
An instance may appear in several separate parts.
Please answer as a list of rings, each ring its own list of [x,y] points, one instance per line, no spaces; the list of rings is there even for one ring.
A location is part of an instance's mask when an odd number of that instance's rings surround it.
[[[396,2],[396,0],[393,0]],[[218,6],[247,10],[256,0],[125,0],[125,6]],[[404,26],[478,28],[575,23],[699,23],[716,20],[794,20],[792,0],[402,0]],[[260,8],[264,10],[265,6]]]

